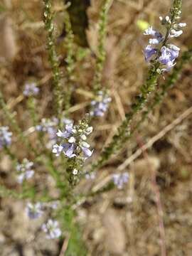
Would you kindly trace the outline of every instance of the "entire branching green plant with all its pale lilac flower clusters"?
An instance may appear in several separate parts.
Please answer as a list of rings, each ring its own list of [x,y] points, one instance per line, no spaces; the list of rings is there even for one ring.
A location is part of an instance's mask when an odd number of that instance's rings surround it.
[[[28,112],[35,134],[34,142],[23,132],[15,115],[10,111],[4,96],[0,91],[0,107],[4,119],[9,122],[9,127],[0,127],[0,151],[5,151],[13,160],[17,185],[20,192],[11,191],[6,186],[0,186],[1,196],[10,196],[18,199],[26,199],[26,214],[34,221],[43,215],[48,216],[42,223],[41,230],[48,239],[63,238],[65,231],[70,233],[70,241],[66,255],[86,255],[84,245],[80,242],[80,230],[75,223],[75,207],[78,205],[81,195],[75,193],[75,186],[82,178],[92,181],[95,179],[97,169],[104,166],[113,154],[121,150],[126,142],[139,129],[144,118],[158,105],[166,95],[167,90],[174,86],[183,66],[191,60],[191,49],[187,50],[179,58],[181,51],[172,43],[174,38],[181,36],[186,23],[181,23],[181,0],[174,0],[168,16],[160,17],[160,32],[152,26],[144,31],[144,36],[149,36],[149,44],[144,48],[144,58],[149,63],[146,80],[140,87],[139,94],[125,114],[124,120],[117,128],[116,134],[107,146],[102,149],[96,160],[92,146],[92,133],[94,132],[95,119],[107,115],[112,98],[109,93],[109,85],[102,85],[102,71],[105,65],[105,38],[107,36],[107,14],[112,4],[111,0],[104,0],[101,6],[98,22],[98,46],[95,57],[95,74],[92,78],[92,99],[89,102],[88,113],[78,119],[70,117],[71,97],[73,95],[73,83],[75,77],[75,51],[74,36],[68,14],[68,6],[63,5],[66,29],[65,48],[67,49],[66,67],[64,75],[60,70],[58,58],[53,1],[43,0],[45,10],[43,13],[47,33],[47,50],[51,73],[53,75],[53,102],[55,111],[50,117],[39,117],[37,112],[37,98],[41,95],[38,82],[26,82],[23,88],[23,96],[27,101]],[[142,50],[142,49],[141,49]],[[177,62],[177,63],[176,63]],[[171,73],[172,70],[172,73]],[[158,89],[157,84],[161,75],[170,72],[167,80]],[[64,85],[61,78],[65,78]],[[77,78],[75,78],[77,79]],[[75,91],[75,89],[74,89]],[[143,111],[144,108],[146,111]],[[135,117],[142,115],[140,122],[134,123]],[[29,127],[31,129],[31,127]],[[12,147],[12,137],[21,140],[26,156],[21,161],[18,159],[16,149]],[[33,176],[38,172],[38,165],[45,166],[50,176],[55,180],[58,188],[58,197],[50,196],[49,191],[36,191]],[[36,168],[34,168],[34,166]],[[124,188],[129,182],[129,173],[112,174],[112,181],[118,189]],[[31,180],[30,182],[28,182]],[[32,184],[32,186],[31,186]],[[115,187],[113,186],[113,187]],[[87,195],[82,195],[87,196]],[[94,196],[94,193],[91,195]],[[47,213],[47,214],[46,214]],[[64,232],[63,232],[64,231]]]

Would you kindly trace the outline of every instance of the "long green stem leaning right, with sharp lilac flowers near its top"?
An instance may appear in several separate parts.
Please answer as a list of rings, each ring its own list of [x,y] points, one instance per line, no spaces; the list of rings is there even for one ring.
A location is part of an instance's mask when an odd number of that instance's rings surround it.
[[[174,60],[178,55],[178,50],[176,50],[176,47],[172,45],[170,48],[170,46],[168,46],[168,41],[172,29],[176,28],[176,22],[181,17],[181,6],[182,1],[174,1],[173,7],[170,10],[169,21],[166,23],[166,34],[164,37],[161,36],[161,33],[154,31],[151,27],[145,31],[145,35],[150,34],[151,36],[154,36],[154,39],[156,39],[156,41],[153,41],[152,39],[150,41],[151,43],[161,43],[161,51],[152,50],[151,52],[151,46],[146,46],[147,49],[144,53],[146,59],[148,59],[149,56],[151,58],[152,55],[157,54],[156,58],[151,60],[146,82],[144,82],[144,85],[140,87],[139,95],[135,97],[135,101],[132,103],[131,109],[125,114],[125,119],[118,127],[117,133],[114,134],[112,142],[103,149],[101,156],[92,164],[90,171],[95,171],[95,169],[99,169],[103,166],[114,153],[121,149],[122,144],[127,142],[132,134],[130,131],[130,125],[137,113],[146,105],[146,102],[149,100],[149,95],[156,90],[159,76],[164,70],[169,70],[174,65]],[[169,47],[169,53],[166,51],[167,47]],[[166,65],[166,68],[161,68],[161,64]]]

